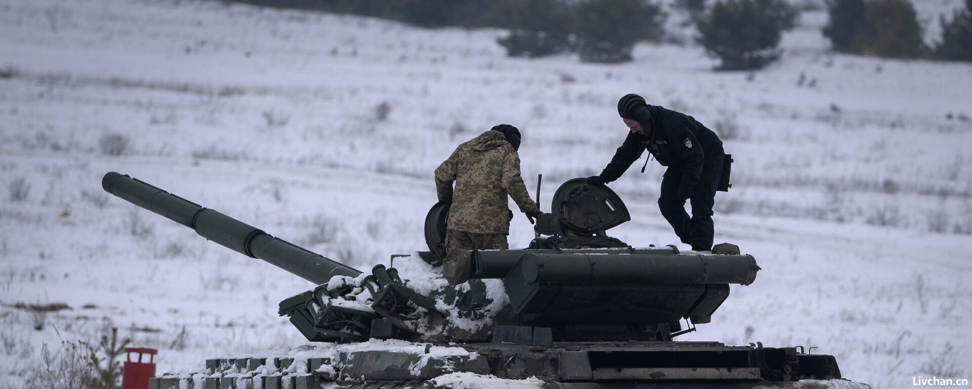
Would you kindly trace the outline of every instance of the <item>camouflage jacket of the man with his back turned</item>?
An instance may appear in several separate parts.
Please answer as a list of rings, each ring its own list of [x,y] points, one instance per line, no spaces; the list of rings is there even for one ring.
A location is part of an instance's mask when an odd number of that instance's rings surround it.
[[[500,131],[483,132],[459,145],[435,169],[435,192],[439,201],[452,201],[449,230],[509,233],[507,194],[520,211],[539,213],[520,177],[520,156]]]

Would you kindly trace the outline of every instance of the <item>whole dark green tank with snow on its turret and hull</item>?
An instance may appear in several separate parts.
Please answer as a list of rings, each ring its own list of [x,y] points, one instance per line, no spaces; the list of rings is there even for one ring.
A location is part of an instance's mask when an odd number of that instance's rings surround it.
[[[457,286],[438,268],[448,203],[426,218],[427,251],[392,256],[390,265],[425,266],[403,279],[394,266],[363,272],[120,173],[102,186],[315,285],[281,301],[278,314],[328,352],[214,358],[198,373],[150,379],[153,389],[430,388],[469,377],[575,389],[868,387],[844,379],[833,356],[799,346],[675,340],[710,323],[730,285],[751,284],[760,267],[738,252],[608,236],[631,215],[586,179],[560,186],[525,248],[462,252],[469,281]]]

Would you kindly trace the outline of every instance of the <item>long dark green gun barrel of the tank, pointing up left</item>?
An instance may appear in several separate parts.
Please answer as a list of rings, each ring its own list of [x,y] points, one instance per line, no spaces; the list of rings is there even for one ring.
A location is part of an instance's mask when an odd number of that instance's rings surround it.
[[[109,194],[195,230],[208,240],[283,268],[315,284],[326,283],[335,275],[357,277],[362,273],[354,267],[331,261],[216,210],[204,208],[121,173],[112,171],[105,174],[101,187]]]

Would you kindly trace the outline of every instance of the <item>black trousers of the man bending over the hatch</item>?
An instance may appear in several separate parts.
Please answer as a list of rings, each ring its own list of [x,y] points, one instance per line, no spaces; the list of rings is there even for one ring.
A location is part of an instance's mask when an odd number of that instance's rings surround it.
[[[712,226],[712,206],[715,205],[715,190],[719,186],[722,176],[722,162],[725,152],[722,146],[706,155],[702,166],[699,183],[692,189],[689,201],[692,204],[692,216],[685,212],[685,200],[678,198],[678,187],[685,172],[682,166],[670,166],[662,178],[661,195],[658,197],[658,208],[665,220],[672,225],[682,243],[692,245],[692,250],[712,250],[712,236],[715,230]]]

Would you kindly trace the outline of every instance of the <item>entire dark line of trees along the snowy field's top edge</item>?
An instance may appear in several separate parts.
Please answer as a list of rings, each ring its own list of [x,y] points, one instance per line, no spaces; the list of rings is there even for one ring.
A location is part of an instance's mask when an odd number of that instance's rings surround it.
[[[387,18],[435,28],[496,27],[510,56],[576,53],[585,62],[624,62],[635,44],[658,41],[668,17],[658,0],[236,0],[264,7]],[[909,0],[827,0],[823,34],[836,52],[897,58],[972,60],[972,0],[942,18],[942,38],[923,42]],[[785,0],[677,0],[697,42],[721,69],[758,69],[781,55],[781,34],[798,11]]]

